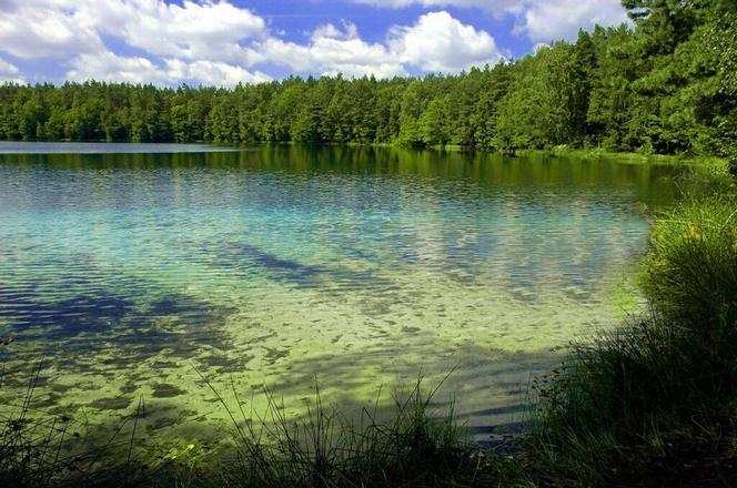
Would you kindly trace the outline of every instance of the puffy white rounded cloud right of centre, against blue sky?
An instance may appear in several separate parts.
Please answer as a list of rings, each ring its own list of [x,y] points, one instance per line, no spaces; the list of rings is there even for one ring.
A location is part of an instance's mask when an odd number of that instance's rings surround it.
[[[412,27],[392,28],[388,45],[403,62],[425,71],[457,72],[501,59],[494,38],[444,11],[426,13]]]

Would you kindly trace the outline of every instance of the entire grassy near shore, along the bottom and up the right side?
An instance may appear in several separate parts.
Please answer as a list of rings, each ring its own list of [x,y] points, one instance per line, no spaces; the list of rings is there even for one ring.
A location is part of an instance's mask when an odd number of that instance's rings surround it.
[[[0,485],[168,487],[737,486],[737,196],[688,200],[655,223],[642,271],[652,312],[572,345],[533,384],[527,434],[482,449],[420,380],[380,420],[323,405],[285,418],[226,405],[230,448],[179,446],[152,462],[132,436],[62,455],[63,419],[0,427]]]

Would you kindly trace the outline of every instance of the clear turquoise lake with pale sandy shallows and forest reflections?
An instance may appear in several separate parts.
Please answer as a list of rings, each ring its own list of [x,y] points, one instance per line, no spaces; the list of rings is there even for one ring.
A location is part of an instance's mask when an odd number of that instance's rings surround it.
[[[226,424],[198,370],[291,415],[452,369],[483,439],[562,346],[642,307],[648,215],[683,166],[390,148],[0,144],[7,409]],[[162,430],[163,429],[163,430]],[[169,431],[166,430],[166,431]]]

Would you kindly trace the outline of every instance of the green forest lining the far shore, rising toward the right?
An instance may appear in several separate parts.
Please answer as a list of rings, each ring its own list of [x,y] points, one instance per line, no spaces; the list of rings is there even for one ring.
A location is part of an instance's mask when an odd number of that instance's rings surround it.
[[[624,0],[630,24],[457,75],[233,89],[0,85],[0,139],[314,142],[737,157],[737,2]]]

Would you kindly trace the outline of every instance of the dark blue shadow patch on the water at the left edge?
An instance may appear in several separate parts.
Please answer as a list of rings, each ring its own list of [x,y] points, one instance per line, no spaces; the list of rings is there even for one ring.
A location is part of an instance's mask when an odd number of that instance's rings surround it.
[[[41,285],[48,283],[27,279],[23,289],[0,285],[0,321],[7,324],[2,334],[16,339],[13,358],[64,357],[73,364],[74,354],[117,349],[127,364],[163,349],[188,358],[202,346],[228,346],[222,325],[234,309],[226,306],[178,292],[161,295],[143,284],[127,292],[95,286],[93,293],[54,299],[40,292]],[[3,356],[11,357],[0,350]]]

